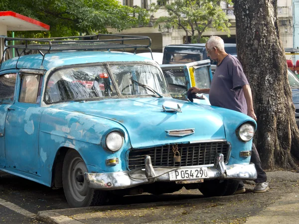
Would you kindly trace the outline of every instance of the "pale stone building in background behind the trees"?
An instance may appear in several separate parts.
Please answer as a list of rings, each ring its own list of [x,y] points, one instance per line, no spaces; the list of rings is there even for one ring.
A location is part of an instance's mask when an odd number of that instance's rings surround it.
[[[119,0],[123,5],[128,6],[140,6],[142,8],[149,9],[151,3],[157,3],[159,0]],[[295,3],[296,2],[296,3]],[[294,5],[292,4],[292,0],[278,0],[278,17],[280,22],[280,33],[281,39],[284,44],[284,47],[293,47],[294,37],[293,37],[293,7],[299,8],[299,0],[294,0]],[[217,31],[213,28],[208,29],[203,33],[203,36],[211,36],[218,35],[221,36],[225,43],[236,43],[236,19],[234,16],[234,7],[233,5],[226,4],[225,2],[221,2],[220,6],[228,15],[230,23],[232,24],[230,27],[230,37],[227,37],[227,33]],[[153,21],[155,18],[159,16],[166,15],[164,10],[158,10],[157,12],[152,14],[151,20]],[[299,14],[298,14],[299,16]],[[152,51],[162,52],[163,47],[168,44],[181,44],[184,43],[185,32],[182,29],[169,28],[161,30],[159,27],[153,27],[153,22],[150,22],[147,27],[137,27],[128,30],[124,30],[122,34],[132,34],[132,35],[147,35],[153,41],[151,45]],[[299,17],[297,19],[296,25],[298,26],[299,32]],[[110,32],[118,33],[117,30],[109,29]],[[299,37],[296,40],[299,46]],[[291,56],[291,55],[290,55]]]

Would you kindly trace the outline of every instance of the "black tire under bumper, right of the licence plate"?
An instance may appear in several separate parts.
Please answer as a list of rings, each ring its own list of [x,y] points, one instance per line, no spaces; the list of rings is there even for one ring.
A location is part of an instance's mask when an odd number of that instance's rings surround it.
[[[198,188],[198,190],[205,197],[217,197],[217,196],[229,196],[233,195],[239,186],[237,180],[210,180],[204,181]]]

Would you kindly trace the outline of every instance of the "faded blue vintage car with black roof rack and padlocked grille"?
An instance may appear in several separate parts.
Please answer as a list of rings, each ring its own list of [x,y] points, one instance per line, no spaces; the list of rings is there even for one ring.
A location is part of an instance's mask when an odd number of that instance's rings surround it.
[[[256,179],[253,119],[175,99],[156,62],[110,50],[148,37],[103,36],[5,39],[19,56],[0,66],[0,170],[63,187],[70,207],[182,187],[232,195]],[[209,62],[184,69],[209,87]]]

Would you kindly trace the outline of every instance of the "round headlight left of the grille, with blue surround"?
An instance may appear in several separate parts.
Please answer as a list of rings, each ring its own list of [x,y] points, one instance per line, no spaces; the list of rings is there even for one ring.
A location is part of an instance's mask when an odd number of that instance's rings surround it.
[[[124,145],[124,134],[121,131],[113,130],[105,136],[102,145],[105,150],[115,153]]]

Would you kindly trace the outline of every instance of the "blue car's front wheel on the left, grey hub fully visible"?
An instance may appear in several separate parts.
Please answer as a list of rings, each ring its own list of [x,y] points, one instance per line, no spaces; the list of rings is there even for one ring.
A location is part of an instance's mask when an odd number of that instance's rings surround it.
[[[84,178],[83,182],[76,179],[77,174],[87,172],[86,164],[76,150],[68,150],[62,167],[62,184],[65,198],[71,208],[104,205],[108,201],[105,191],[96,191],[88,187]]]

